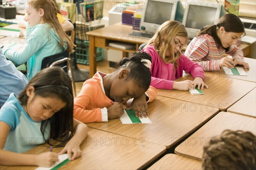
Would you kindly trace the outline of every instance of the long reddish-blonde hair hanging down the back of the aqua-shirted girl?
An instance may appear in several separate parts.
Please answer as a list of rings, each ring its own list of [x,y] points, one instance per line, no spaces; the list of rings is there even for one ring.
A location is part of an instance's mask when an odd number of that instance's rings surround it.
[[[57,18],[57,7],[55,1],[53,0],[31,0],[28,1],[28,5],[31,5],[36,10],[43,9],[44,16],[43,20],[45,23],[48,23],[54,31],[58,34],[60,39],[60,46],[64,46],[64,43],[67,43],[67,51],[69,53],[73,52],[75,44],[72,42],[70,37],[63,31],[61,24]]]

